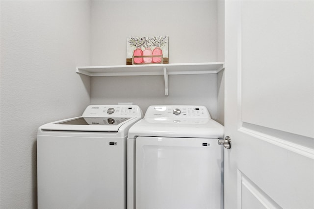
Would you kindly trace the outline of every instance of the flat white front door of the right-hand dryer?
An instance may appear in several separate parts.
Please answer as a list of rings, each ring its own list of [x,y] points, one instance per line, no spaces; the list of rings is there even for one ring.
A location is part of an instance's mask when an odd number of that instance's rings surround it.
[[[136,209],[219,209],[217,139],[137,137]]]

